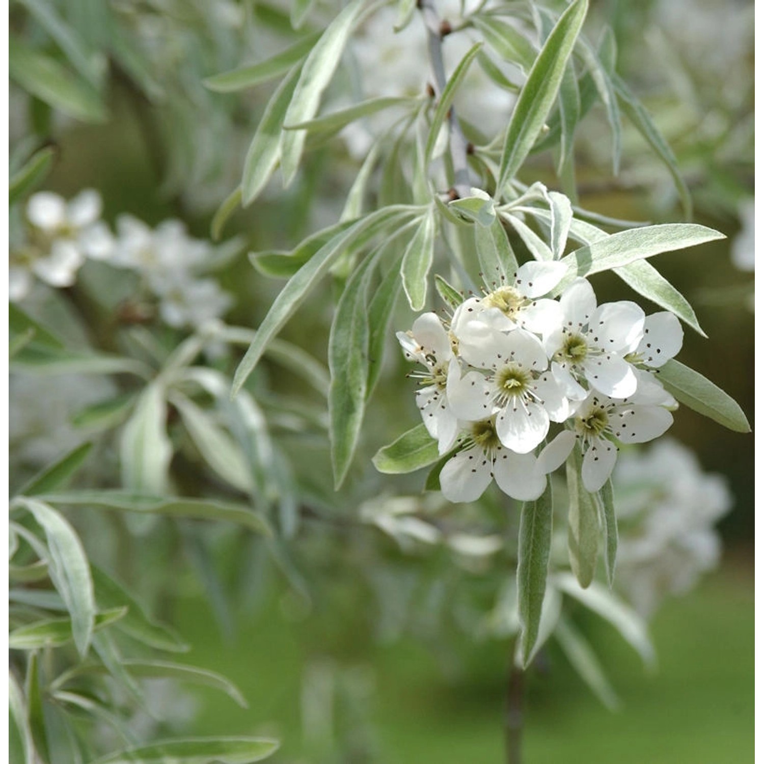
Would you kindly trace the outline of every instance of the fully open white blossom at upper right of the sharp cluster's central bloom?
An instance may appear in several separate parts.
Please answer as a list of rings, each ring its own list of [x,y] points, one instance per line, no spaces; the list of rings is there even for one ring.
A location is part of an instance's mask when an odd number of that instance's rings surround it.
[[[552,374],[568,397],[586,397],[584,381],[607,397],[633,395],[636,370],[625,357],[643,342],[643,309],[628,300],[597,307],[594,290],[583,278],[565,290],[559,304],[562,322],[545,335],[544,345]]]

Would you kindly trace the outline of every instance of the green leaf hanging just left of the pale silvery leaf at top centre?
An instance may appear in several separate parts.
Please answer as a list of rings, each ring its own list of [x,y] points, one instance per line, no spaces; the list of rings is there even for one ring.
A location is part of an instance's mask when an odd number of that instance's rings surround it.
[[[271,95],[263,117],[257,125],[247,158],[244,160],[244,175],[241,177],[241,201],[245,207],[257,199],[279,162],[282,146],[286,143],[282,125],[299,73],[299,66],[295,66],[284,77],[283,82]]]

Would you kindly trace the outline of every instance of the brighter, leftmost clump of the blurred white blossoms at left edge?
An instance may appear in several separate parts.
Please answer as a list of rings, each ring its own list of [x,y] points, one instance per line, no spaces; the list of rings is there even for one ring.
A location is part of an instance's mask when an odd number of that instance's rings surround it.
[[[11,251],[8,296],[17,302],[29,293],[36,276],[50,286],[72,286],[87,257],[106,260],[114,238],[100,219],[101,196],[86,189],[66,202],[40,191],[27,202],[27,241]]]

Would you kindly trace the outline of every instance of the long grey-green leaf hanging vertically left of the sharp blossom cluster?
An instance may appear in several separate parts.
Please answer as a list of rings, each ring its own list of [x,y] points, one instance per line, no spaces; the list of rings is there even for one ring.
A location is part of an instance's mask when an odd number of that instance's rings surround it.
[[[375,257],[367,257],[345,285],[329,332],[329,442],[335,490],[345,480],[364,418],[369,323],[366,295]]]

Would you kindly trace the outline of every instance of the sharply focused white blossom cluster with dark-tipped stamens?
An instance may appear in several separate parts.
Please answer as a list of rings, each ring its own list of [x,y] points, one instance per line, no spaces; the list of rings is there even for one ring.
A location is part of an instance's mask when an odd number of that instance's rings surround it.
[[[594,493],[620,443],[671,426],[676,401],[652,371],[681,348],[678,319],[628,301],[597,306],[584,278],[547,296],[564,275],[559,262],[526,263],[450,322],[425,313],[398,333],[423,367],[413,376],[425,426],[442,455],[454,451],[440,473],[448,500],[476,500],[492,480],[510,497],[536,499],[574,447]]]

